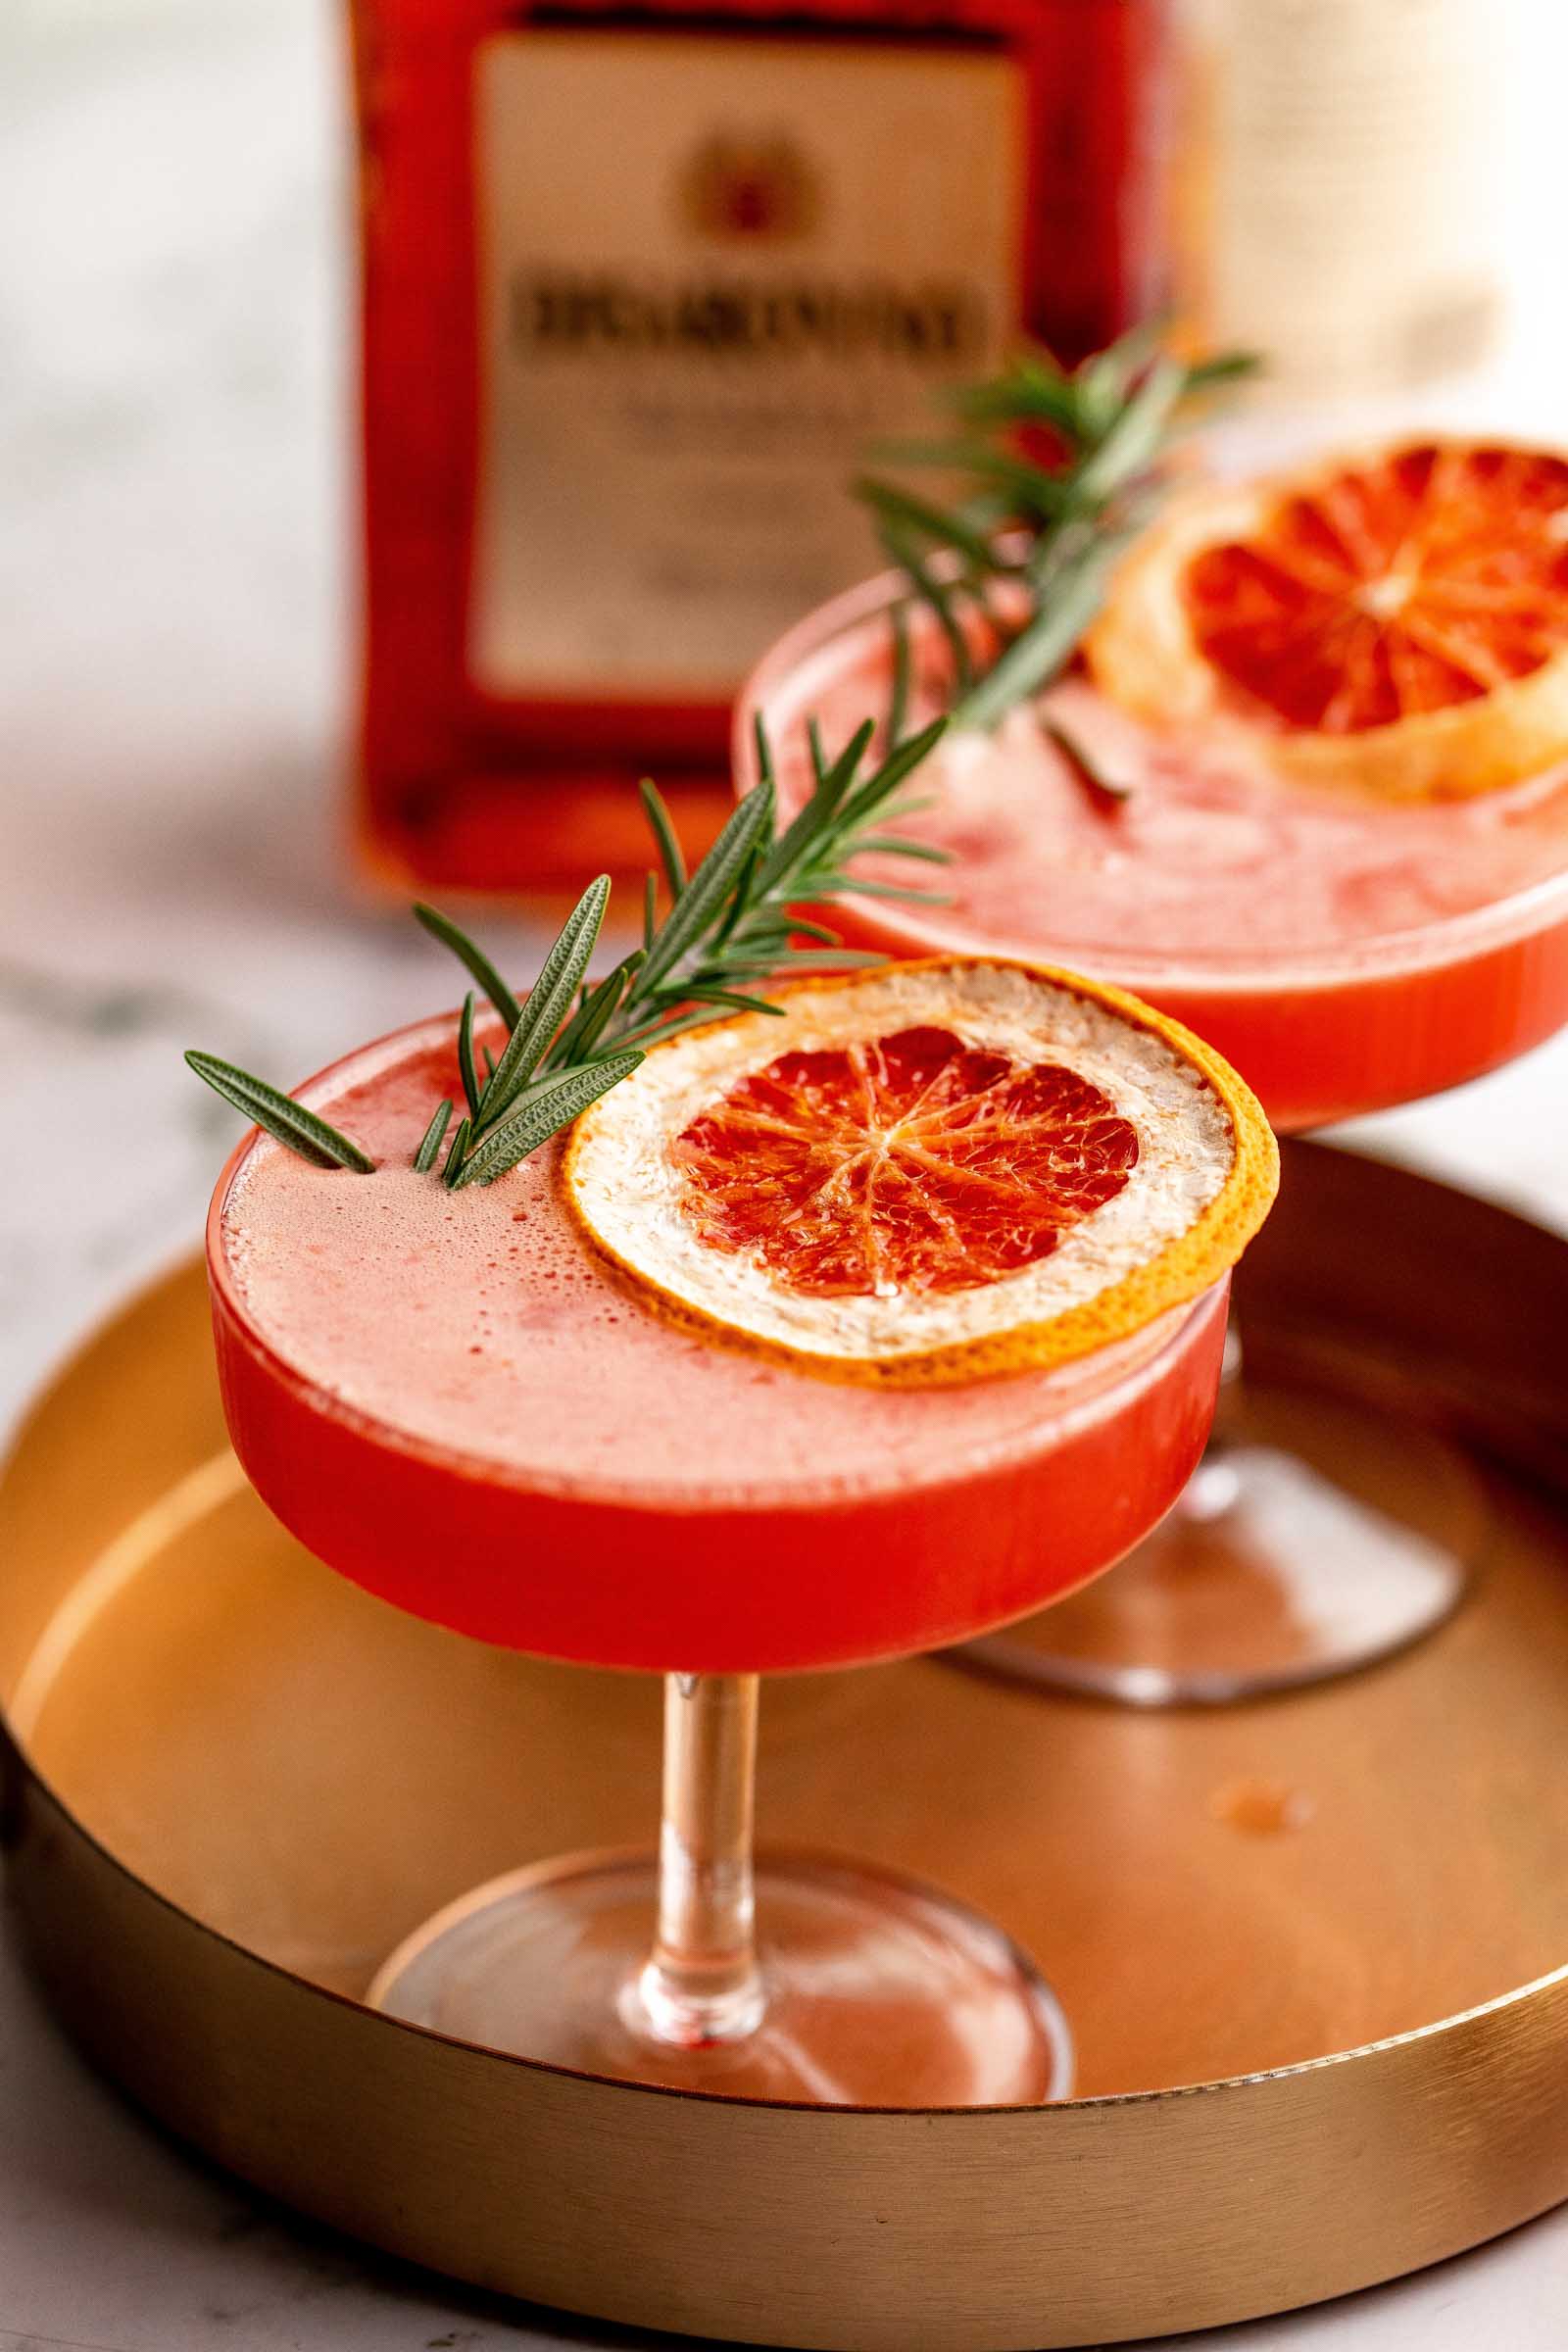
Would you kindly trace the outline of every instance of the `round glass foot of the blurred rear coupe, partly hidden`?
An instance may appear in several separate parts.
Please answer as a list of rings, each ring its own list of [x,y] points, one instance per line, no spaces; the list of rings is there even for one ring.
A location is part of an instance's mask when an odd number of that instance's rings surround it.
[[[1251,1378],[1241,1416],[1121,1566],[950,1656],[1133,1708],[1227,1705],[1375,1665],[1453,1613],[1483,1526],[1460,1454]]]

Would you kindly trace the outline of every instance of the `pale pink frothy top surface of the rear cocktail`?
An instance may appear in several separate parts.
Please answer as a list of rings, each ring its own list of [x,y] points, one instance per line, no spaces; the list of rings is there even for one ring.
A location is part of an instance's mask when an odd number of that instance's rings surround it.
[[[886,696],[882,619],[825,642],[769,691],[788,748],[785,797],[806,790],[804,717],[827,743]],[[1159,741],[1084,680],[1044,703],[1095,764],[1128,786],[1088,790],[1041,729],[1013,710],[994,739],[952,734],[926,762],[933,807],[905,830],[952,849],[943,910],[879,908],[914,943],[985,941],[1051,953],[1157,985],[1161,967],[1246,971],[1269,983],[1380,962],[1394,943],[1413,962],[1441,957],[1441,927],[1568,870],[1568,771],[1474,800],[1389,804],[1338,795],[1220,757],[1213,746]],[[907,882],[896,861],[863,868]],[[1422,934],[1432,934],[1422,938]],[[1251,1073],[1248,1073],[1251,1075]]]

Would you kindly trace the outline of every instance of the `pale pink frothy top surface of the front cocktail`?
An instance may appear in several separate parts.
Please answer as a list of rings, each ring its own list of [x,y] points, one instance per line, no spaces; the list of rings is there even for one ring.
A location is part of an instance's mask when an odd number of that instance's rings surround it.
[[[451,1018],[367,1047],[308,1089],[376,1157],[313,1169],[261,1138],[223,1204],[252,1329],[336,1409],[559,1494],[703,1508],[907,1491],[1048,1449],[1180,1317],[1081,1364],[877,1392],[682,1334],[592,1254],[548,1145],[447,1192],[409,1155],[456,1094]]]

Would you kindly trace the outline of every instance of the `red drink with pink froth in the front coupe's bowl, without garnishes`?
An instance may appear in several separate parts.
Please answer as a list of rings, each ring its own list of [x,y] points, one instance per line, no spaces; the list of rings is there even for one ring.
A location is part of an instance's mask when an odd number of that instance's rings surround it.
[[[1053,1371],[879,1390],[693,1338],[567,1214],[555,1155],[409,1167],[451,1018],[306,1089],[383,1162],[252,1138],[207,1228],[223,1409],[261,1498],[416,1616],[592,1665],[886,1658],[1110,1566],[1208,1435],[1225,1284]]]

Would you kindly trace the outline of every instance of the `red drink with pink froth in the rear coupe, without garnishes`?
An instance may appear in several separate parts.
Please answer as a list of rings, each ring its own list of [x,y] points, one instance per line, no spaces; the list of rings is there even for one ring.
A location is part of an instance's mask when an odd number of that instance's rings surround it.
[[[896,593],[870,581],[780,637],[741,696],[743,781],[752,713],[790,804],[809,788],[804,720],[837,741],[886,699]],[[1124,797],[1086,783],[1041,717]],[[1225,1054],[1281,1134],[1458,1087],[1568,1021],[1568,762],[1505,802],[1347,800],[1140,727],[1074,675],[994,736],[950,734],[922,790],[936,804],[912,830],[952,851],[950,903],[851,898],[856,938],[1051,953],[1117,978]],[[860,870],[905,880],[875,856]]]

